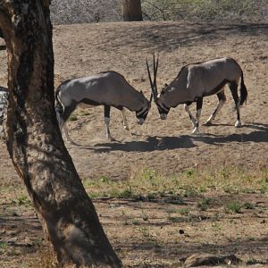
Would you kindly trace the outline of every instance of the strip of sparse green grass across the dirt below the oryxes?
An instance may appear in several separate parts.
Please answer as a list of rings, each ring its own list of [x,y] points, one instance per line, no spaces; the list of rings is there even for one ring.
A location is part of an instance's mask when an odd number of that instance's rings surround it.
[[[171,204],[181,204],[182,197],[198,197],[205,192],[217,190],[222,193],[241,194],[250,189],[251,193],[267,193],[268,182],[263,179],[266,170],[250,174],[237,168],[223,167],[221,170],[198,171],[188,169],[177,175],[166,177],[152,169],[145,168],[130,180],[84,179],[90,197],[136,198],[154,201],[164,198]],[[214,204],[211,198],[203,199],[198,207],[206,210]]]

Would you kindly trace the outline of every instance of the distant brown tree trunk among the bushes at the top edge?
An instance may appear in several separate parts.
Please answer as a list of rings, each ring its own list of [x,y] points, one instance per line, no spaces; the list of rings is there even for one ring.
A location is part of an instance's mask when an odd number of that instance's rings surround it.
[[[123,0],[123,21],[142,21],[140,0]]]

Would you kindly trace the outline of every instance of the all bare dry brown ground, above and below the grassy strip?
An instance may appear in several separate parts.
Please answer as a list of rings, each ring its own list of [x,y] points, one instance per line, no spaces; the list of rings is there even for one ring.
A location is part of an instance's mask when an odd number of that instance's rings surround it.
[[[234,128],[229,90],[228,102],[215,124],[202,126],[203,134],[199,136],[189,134],[191,123],[183,106],[173,109],[166,121],[159,120],[153,106],[143,126],[138,126],[135,114],[128,112],[130,131],[122,128],[121,114],[113,110],[111,131],[115,142],[105,138],[102,107],[87,113],[78,110],[77,120],[69,121],[68,126],[71,138],[80,146],[66,146],[80,178],[87,182],[127,181],[144,169],[166,178],[184,171],[229,169],[243,170],[253,174],[255,180],[268,182],[267,24],[137,22],[56,26],[55,87],[72,77],[113,70],[149,97],[145,59],[150,59],[153,52],[160,54],[158,88],[171,81],[186,63],[222,56],[236,59],[244,71],[249,94],[241,112],[243,127]],[[4,51],[0,51],[0,58],[0,82],[6,86]],[[216,103],[216,96],[205,99],[203,121]],[[43,244],[40,225],[4,144],[0,144],[0,169],[0,266],[36,267],[32,260]],[[95,204],[109,239],[130,267],[177,267],[181,258],[202,252],[235,254],[244,261],[264,263],[268,252],[267,191],[247,190],[242,194],[241,188],[239,194],[221,187],[206,188],[202,194],[182,195],[181,202],[170,202],[165,196],[155,198],[155,202],[114,197],[96,198]],[[205,211],[198,208],[204,198],[214,200]],[[233,201],[249,203],[254,209],[244,206],[239,214],[227,214],[224,204]]]

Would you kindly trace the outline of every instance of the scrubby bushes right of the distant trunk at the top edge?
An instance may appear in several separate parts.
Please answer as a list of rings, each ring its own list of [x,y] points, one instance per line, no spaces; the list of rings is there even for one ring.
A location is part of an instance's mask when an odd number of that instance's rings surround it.
[[[254,0],[144,0],[148,20],[224,21],[260,20],[265,1]],[[263,17],[262,17],[263,18]]]

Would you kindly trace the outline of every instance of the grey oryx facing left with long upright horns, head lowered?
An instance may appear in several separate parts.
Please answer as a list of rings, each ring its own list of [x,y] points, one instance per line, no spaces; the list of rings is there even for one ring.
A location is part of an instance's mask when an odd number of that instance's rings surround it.
[[[160,95],[157,93],[156,74],[158,69],[158,57],[155,63],[154,54],[154,82],[152,82],[151,72],[147,63],[147,72],[149,76],[152,94],[157,105],[160,118],[165,120],[171,108],[184,104],[190,120],[193,124],[192,134],[198,134],[199,121],[203,105],[203,97],[216,94],[218,96],[218,105],[214,113],[205,121],[206,125],[212,124],[217,113],[222,109],[226,102],[224,86],[228,84],[231,95],[235,102],[237,121],[235,127],[241,126],[240,106],[247,101],[247,88],[244,83],[244,75],[239,63],[234,59],[223,57],[209,60],[202,63],[192,63],[183,66],[177,77],[172,82],[163,87]],[[240,98],[238,87],[240,81]],[[189,111],[189,105],[197,103],[196,119]]]

